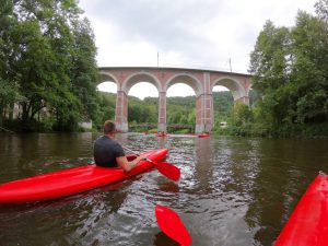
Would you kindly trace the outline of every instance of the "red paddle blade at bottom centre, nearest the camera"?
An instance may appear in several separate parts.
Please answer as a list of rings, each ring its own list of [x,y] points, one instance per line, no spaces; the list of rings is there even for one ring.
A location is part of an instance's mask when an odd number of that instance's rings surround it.
[[[191,237],[180,218],[172,209],[156,206],[155,214],[160,229],[181,246],[191,244]]]

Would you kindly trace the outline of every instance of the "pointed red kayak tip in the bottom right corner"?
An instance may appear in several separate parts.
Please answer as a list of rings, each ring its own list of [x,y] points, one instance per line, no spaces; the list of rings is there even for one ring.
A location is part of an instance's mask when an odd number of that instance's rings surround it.
[[[328,245],[328,175],[320,173],[303,195],[274,246]]]

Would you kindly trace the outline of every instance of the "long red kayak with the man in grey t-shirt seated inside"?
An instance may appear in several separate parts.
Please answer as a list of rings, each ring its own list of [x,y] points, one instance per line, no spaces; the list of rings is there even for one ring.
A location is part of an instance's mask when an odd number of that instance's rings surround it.
[[[162,161],[167,152],[167,149],[161,149],[142,154],[156,163]],[[154,163],[141,161],[129,173],[125,173],[121,168],[99,167],[92,164],[4,183],[0,185],[0,204],[67,197],[134,176],[152,168]]]

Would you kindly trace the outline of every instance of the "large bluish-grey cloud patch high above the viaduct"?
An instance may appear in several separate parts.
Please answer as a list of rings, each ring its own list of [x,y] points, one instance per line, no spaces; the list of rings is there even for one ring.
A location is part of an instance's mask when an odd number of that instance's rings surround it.
[[[104,1],[101,11],[94,14],[102,22],[110,22],[124,42],[150,42],[162,51],[194,50],[194,54],[210,45],[202,36],[201,26],[216,5],[212,1],[201,8],[199,1],[188,1],[188,4],[185,1],[112,2]]]

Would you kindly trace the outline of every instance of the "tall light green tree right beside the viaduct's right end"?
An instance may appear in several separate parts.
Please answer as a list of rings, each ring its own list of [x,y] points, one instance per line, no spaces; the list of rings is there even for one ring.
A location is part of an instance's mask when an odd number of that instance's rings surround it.
[[[286,105],[291,103],[283,92],[283,86],[290,81],[290,49],[289,30],[276,27],[267,21],[250,54],[253,87],[261,95],[270,95],[270,99],[265,99],[263,104],[269,104],[266,108],[272,114],[274,124],[285,120]]]

